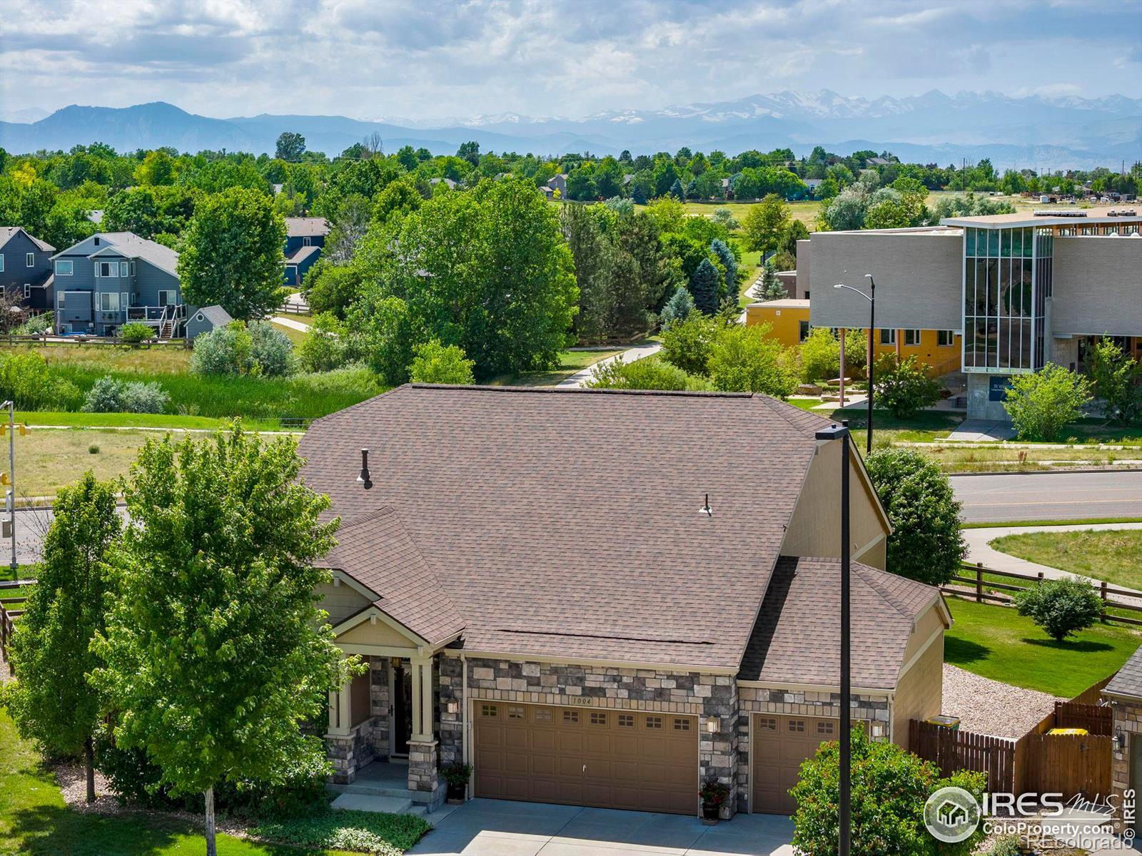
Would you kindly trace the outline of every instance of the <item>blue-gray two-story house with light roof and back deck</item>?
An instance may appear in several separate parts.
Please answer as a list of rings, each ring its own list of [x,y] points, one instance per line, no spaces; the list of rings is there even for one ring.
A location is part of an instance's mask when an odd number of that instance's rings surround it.
[[[100,232],[51,257],[55,322],[62,334],[114,336],[129,321],[155,336],[183,334],[187,307],[178,253],[131,232]]]

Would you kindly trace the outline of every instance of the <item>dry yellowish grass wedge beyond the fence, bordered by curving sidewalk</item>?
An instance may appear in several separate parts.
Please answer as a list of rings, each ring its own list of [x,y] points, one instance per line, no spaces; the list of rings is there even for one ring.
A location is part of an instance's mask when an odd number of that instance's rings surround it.
[[[1142,530],[1026,532],[997,538],[991,546],[1039,565],[1142,589]]]

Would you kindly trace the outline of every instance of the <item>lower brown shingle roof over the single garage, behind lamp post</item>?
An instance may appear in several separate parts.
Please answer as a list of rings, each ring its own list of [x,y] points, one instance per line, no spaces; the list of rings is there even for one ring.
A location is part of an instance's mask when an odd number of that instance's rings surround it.
[[[931,586],[852,563],[852,683],[893,689],[914,623],[939,597]],[[841,562],[778,562],[741,662],[741,680],[841,681]]]

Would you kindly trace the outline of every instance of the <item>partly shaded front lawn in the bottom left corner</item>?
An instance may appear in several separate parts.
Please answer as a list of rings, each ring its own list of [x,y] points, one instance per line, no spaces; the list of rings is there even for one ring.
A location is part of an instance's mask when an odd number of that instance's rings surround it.
[[[368,826],[394,845],[411,846],[427,824],[419,818],[333,813],[317,823],[267,824],[266,832],[291,841],[323,838],[337,827]],[[262,834],[260,832],[258,834]],[[327,839],[328,840],[328,839]],[[347,850],[271,845],[218,835],[219,856],[347,856]],[[131,813],[115,817],[80,814],[63,800],[39,753],[21,740],[0,709],[0,856],[201,856],[198,824],[169,815]]]

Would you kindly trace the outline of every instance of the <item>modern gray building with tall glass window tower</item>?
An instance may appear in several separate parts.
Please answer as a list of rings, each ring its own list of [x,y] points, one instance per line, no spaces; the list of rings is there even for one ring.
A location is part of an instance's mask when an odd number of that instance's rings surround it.
[[[1080,371],[1103,334],[1142,358],[1140,227],[1137,211],[1120,207],[815,232],[797,244],[797,290],[811,296],[813,326],[867,329],[868,301],[834,285],[868,291],[871,274],[877,348],[900,353],[925,331],[958,340],[968,417],[1007,419],[1012,374],[1048,362]]]

